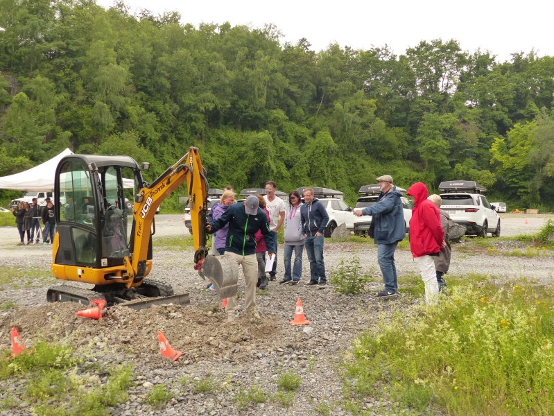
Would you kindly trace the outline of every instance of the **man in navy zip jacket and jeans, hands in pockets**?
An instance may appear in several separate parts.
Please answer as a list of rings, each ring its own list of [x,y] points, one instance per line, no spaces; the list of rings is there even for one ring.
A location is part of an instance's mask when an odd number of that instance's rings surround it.
[[[306,286],[318,285],[325,287],[325,263],[323,261],[323,243],[325,241],[323,230],[329,222],[327,209],[313,198],[313,189],[304,189],[304,202],[300,207],[302,229],[304,230],[304,246],[310,262],[310,281]]]

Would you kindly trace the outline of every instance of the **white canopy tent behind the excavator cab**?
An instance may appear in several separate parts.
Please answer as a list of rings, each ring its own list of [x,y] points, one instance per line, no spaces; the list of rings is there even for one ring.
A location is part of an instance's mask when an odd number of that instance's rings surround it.
[[[27,171],[13,175],[0,177],[0,189],[16,189],[18,191],[53,191],[55,168],[58,167],[62,157],[73,155],[69,148],[52,159],[28,169]],[[124,188],[133,188],[135,182],[132,179],[123,178]]]

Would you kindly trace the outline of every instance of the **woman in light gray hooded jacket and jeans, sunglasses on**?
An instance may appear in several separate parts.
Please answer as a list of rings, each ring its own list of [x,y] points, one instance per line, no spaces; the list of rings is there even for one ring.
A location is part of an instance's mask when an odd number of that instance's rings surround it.
[[[285,275],[279,284],[294,285],[300,281],[302,277],[302,250],[304,250],[304,233],[302,232],[302,222],[300,215],[300,207],[302,200],[300,193],[292,191],[288,194],[288,209],[285,213],[284,223],[284,266]],[[294,251],[294,266],[291,273],[291,259]]]

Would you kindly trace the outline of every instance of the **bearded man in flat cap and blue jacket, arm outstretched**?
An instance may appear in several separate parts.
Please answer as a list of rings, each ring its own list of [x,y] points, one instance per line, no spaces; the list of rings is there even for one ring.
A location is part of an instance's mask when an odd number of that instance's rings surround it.
[[[397,270],[395,265],[395,250],[398,242],[406,236],[404,211],[400,197],[392,184],[392,176],[383,175],[377,179],[381,193],[375,205],[365,207],[362,211],[354,211],[354,215],[372,216],[370,237],[377,245],[377,261],[383,274],[385,289],[377,294],[381,298],[398,295]]]

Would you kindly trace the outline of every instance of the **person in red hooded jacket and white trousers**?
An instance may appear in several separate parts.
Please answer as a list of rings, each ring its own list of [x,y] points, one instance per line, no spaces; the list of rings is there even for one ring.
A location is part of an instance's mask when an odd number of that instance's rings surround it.
[[[444,234],[440,225],[440,211],[427,199],[429,191],[422,182],[413,184],[406,195],[414,199],[412,219],[410,219],[410,249],[417,261],[425,284],[425,302],[438,304],[439,286],[433,256],[443,248]]]

